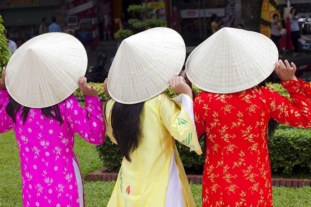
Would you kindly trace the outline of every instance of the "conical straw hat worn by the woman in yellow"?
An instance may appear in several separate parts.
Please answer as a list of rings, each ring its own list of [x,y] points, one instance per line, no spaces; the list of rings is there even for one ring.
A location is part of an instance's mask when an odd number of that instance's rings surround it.
[[[124,39],[108,75],[108,91],[119,103],[140,103],[162,93],[186,57],[183,38],[157,27]]]

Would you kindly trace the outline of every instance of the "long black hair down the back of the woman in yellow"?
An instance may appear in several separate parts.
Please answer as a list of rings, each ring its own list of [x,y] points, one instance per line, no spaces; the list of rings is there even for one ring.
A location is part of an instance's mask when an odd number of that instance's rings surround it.
[[[124,104],[114,102],[110,112],[114,138],[121,152],[129,162],[132,161],[130,154],[138,147],[139,138],[142,135],[140,114],[144,103]],[[104,113],[106,117],[106,106]]]

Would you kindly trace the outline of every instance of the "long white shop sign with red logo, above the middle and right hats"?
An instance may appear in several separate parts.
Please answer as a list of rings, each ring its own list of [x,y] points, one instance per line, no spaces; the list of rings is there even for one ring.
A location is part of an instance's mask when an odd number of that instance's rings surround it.
[[[181,10],[180,14],[183,19],[204,17],[204,9]],[[212,14],[225,16],[225,8],[205,9],[205,17],[211,17]]]

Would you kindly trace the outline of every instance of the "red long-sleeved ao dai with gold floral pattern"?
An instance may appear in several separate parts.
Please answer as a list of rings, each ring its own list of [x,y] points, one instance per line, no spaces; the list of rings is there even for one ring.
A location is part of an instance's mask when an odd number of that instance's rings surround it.
[[[207,142],[203,206],[272,206],[268,121],[311,127],[310,84],[298,79],[282,86],[293,103],[263,86],[195,98],[197,135],[205,132]]]

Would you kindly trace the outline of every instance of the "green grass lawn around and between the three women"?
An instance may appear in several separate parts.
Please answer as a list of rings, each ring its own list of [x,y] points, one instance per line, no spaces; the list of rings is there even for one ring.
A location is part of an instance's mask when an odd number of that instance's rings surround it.
[[[107,140],[109,141],[109,140]],[[102,167],[95,146],[76,135],[74,151],[83,178]],[[0,206],[22,206],[21,166],[14,131],[0,134]],[[106,206],[115,182],[84,181],[86,206]],[[197,206],[201,206],[202,185],[191,185]],[[311,187],[273,187],[274,206],[311,206]]]

